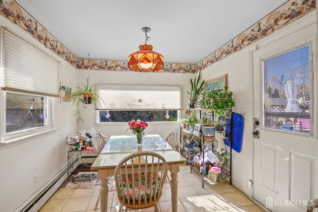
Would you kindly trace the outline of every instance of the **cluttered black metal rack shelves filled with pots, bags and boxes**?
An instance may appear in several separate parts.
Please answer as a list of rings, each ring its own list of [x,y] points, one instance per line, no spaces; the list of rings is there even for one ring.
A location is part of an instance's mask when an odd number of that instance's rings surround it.
[[[187,125],[180,123],[180,141],[183,142],[181,153],[194,170],[202,176],[203,182],[218,184],[230,179],[231,182],[231,155],[232,129],[231,111],[223,111],[221,116],[214,111],[192,109],[190,113],[201,115],[209,114],[210,124],[200,124],[199,129],[190,131]],[[216,126],[215,119],[218,118]],[[219,130],[221,126],[221,131]],[[213,129],[210,129],[213,128]]]

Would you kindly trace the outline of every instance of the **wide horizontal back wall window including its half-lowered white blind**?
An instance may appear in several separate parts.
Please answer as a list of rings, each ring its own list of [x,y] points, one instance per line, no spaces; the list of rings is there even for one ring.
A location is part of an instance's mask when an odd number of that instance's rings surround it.
[[[103,99],[96,109],[97,123],[128,122],[141,119],[147,122],[173,122],[181,110],[181,88],[159,85],[96,85]]]

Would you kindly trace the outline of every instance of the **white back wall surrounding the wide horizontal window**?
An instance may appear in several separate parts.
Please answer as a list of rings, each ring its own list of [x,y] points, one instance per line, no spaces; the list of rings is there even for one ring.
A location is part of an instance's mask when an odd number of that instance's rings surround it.
[[[191,73],[156,73],[156,72],[132,72],[132,71],[78,71],[78,86],[82,86],[86,76],[90,75],[91,82],[106,84],[147,84],[147,85],[179,85],[182,92],[182,108],[188,104],[187,91],[190,89],[190,78],[194,77]],[[107,105],[107,102],[105,102]],[[114,135],[123,135],[128,128],[127,123],[103,123],[95,125],[95,114],[92,107],[83,109],[79,106],[84,123],[79,123],[79,129],[88,130],[93,127],[95,130],[100,128],[101,132],[108,138]],[[181,112],[184,115],[184,110]],[[172,131],[179,132],[179,122],[173,123],[149,123],[146,134],[159,134],[166,138]]]

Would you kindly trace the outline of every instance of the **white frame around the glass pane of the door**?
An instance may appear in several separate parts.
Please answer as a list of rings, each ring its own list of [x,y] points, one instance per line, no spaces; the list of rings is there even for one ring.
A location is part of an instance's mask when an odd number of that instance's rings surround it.
[[[267,82],[267,80],[265,80],[265,71],[264,71],[264,61],[268,58],[272,58],[272,57],[277,57],[277,56],[281,56],[283,54],[286,54],[286,53],[289,53],[289,52],[292,52],[294,51],[295,49],[299,49],[299,48],[302,48],[302,47],[305,47],[309,45],[309,48],[310,48],[310,73],[309,73],[309,77],[310,77],[310,132],[309,133],[306,133],[306,132],[301,132],[301,131],[284,131],[280,128],[277,128],[277,127],[268,127],[268,126],[265,126],[265,114],[268,114],[268,112],[266,112],[266,108],[265,108],[265,105],[266,105],[266,96],[265,95],[265,83]],[[314,114],[315,114],[315,86],[314,86],[314,64],[315,64],[315,57],[314,57],[314,47],[315,47],[315,39],[314,38],[311,38],[311,39],[306,39],[304,40],[303,42],[300,42],[300,43],[297,43],[297,44],[294,44],[292,46],[289,46],[289,47],[286,47],[286,48],[283,48],[283,49],[280,49],[279,51],[275,51],[273,52],[272,54],[269,54],[269,55],[266,55],[266,56],[263,56],[260,58],[260,66],[261,66],[261,101],[262,101],[262,107],[261,107],[261,113],[262,113],[262,129],[265,130],[265,131],[274,131],[274,132],[280,132],[280,133],[287,133],[287,134],[291,134],[291,135],[295,135],[295,136],[300,136],[300,137],[312,137],[314,138],[315,137],[315,134],[316,134],[316,130],[314,129],[314,126],[316,123],[315,120],[314,120]],[[267,90],[267,88],[266,88]],[[267,91],[266,91],[267,93]],[[277,112],[275,114],[278,114],[278,113],[285,113],[285,112]],[[288,112],[287,112],[288,113]],[[286,113],[285,113],[286,114]],[[289,117],[289,116],[288,116]]]

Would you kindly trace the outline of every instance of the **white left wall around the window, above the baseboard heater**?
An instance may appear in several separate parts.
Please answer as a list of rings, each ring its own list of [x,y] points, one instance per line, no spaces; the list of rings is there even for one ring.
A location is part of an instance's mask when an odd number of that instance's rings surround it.
[[[60,80],[72,87],[77,84],[77,70],[46,49],[19,26],[0,16],[0,25],[5,26],[41,50],[50,54],[60,63]],[[36,64],[35,64],[36,66]],[[1,91],[2,92],[2,91]],[[2,94],[1,94],[2,95]],[[43,190],[55,176],[65,169],[68,147],[66,136],[77,129],[76,119],[72,116],[75,107],[60,104],[54,99],[54,128],[58,130],[47,136],[33,139],[8,148],[0,149],[0,211],[12,212],[23,208]],[[2,117],[2,114],[1,114]],[[1,126],[2,127],[2,126]],[[33,175],[37,174],[37,183],[33,184]]]

